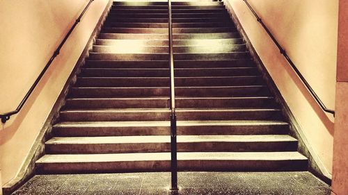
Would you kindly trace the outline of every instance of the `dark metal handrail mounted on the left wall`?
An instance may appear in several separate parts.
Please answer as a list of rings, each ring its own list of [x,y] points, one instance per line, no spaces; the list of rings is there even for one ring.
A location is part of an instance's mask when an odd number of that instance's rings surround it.
[[[68,37],[70,36],[72,31],[74,31],[75,26],[77,26],[77,24],[79,24],[79,22],[81,21],[81,18],[84,16],[84,13],[88,9],[88,7],[90,6],[90,3],[92,3],[92,1],[94,1],[94,0],[90,0],[88,2],[87,6],[84,8],[84,10],[81,12],[79,17],[76,19],[74,25],[72,25],[72,27],[70,28],[70,31],[65,35],[65,37],[64,37],[63,41],[61,42],[61,44],[59,44],[59,46],[57,47],[56,51],[54,51],[52,57],[49,59],[49,61],[47,62],[46,66],[44,67],[44,69],[42,69],[40,75],[38,76],[38,78],[36,78],[36,80],[33,83],[33,85],[31,85],[29,91],[26,93],[26,95],[24,96],[22,101],[19,103],[19,105],[17,106],[16,110],[13,110],[13,111],[10,111],[10,112],[6,112],[6,113],[3,113],[3,114],[0,115],[1,122],[6,123],[6,121],[8,121],[8,119],[10,119],[10,116],[17,114],[23,108],[23,105],[29,99],[29,96],[31,95],[31,93],[33,92],[35,87],[38,85],[38,83],[40,82],[42,76],[44,76],[45,72],[47,71],[49,66],[52,64],[53,60],[56,58],[56,56],[59,55],[59,51],[61,51],[61,48],[65,44],[66,40],[68,40]]]

